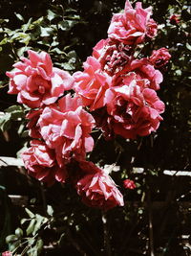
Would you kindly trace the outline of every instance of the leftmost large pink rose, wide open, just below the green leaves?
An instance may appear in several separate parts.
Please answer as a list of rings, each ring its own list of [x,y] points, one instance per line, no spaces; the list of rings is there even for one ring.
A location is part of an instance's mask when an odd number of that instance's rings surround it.
[[[65,90],[73,86],[73,78],[65,71],[53,68],[50,56],[28,51],[28,58],[21,58],[13,65],[15,71],[7,72],[11,78],[11,94],[18,94],[17,102],[32,108],[53,104]]]

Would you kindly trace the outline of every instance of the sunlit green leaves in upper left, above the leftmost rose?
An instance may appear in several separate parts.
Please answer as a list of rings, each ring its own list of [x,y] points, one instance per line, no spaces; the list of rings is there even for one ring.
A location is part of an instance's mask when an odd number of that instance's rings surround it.
[[[37,19],[30,17],[27,22],[20,13],[15,15],[22,22],[18,29],[11,30],[9,20],[1,19],[0,52],[3,56],[7,52],[9,58],[16,61],[29,49],[41,49],[53,55],[58,67],[69,71],[79,67],[79,59],[71,50],[78,38],[73,36],[71,40],[65,39],[76,25],[83,23],[75,10],[64,10],[61,5],[55,5],[52,10],[47,10],[46,15]]]

